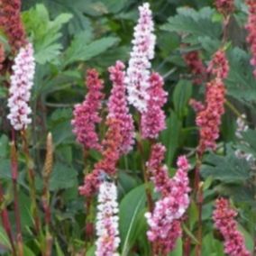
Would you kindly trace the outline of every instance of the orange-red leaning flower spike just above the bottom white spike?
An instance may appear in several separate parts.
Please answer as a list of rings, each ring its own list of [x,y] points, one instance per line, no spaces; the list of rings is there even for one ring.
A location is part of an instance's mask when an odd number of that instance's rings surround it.
[[[114,176],[115,166],[120,158],[120,149],[123,142],[120,121],[108,119],[106,124],[108,125],[108,130],[105,134],[105,140],[102,142],[104,147],[103,159],[95,164],[93,171],[86,176],[84,185],[79,187],[80,194],[86,197],[91,197],[96,193],[103,173],[111,177]]]

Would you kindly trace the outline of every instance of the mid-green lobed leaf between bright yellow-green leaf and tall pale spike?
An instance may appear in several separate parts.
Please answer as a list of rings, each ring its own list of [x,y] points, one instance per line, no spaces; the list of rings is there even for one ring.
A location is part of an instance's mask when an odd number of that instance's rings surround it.
[[[118,42],[116,37],[104,37],[91,41],[91,34],[85,32],[75,36],[64,55],[64,66],[76,61],[87,61],[105,52]]]

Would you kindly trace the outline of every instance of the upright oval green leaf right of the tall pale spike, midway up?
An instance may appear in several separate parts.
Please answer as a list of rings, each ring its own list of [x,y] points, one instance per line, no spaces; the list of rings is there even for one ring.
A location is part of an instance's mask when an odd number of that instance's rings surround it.
[[[173,104],[179,118],[187,114],[187,103],[192,95],[192,83],[188,80],[179,80],[173,92]]]

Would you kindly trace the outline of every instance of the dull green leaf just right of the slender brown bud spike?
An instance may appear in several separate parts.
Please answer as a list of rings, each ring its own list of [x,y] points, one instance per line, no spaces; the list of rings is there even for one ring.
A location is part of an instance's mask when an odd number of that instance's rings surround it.
[[[78,173],[62,163],[56,163],[50,176],[50,190],[56,191],[78,184]]]

